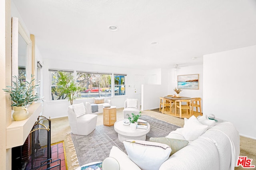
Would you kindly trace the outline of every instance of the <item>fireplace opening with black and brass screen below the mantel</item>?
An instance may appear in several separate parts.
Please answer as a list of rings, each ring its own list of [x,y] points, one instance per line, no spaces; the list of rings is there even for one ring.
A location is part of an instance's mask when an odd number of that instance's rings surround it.
[[[12,148],[12,170],[37,169],[51,159],[50,119],[39,116],[22,146]],[[46,161],[46,162],[44,162]],[[42,162],[44,162],[42,164]]]

